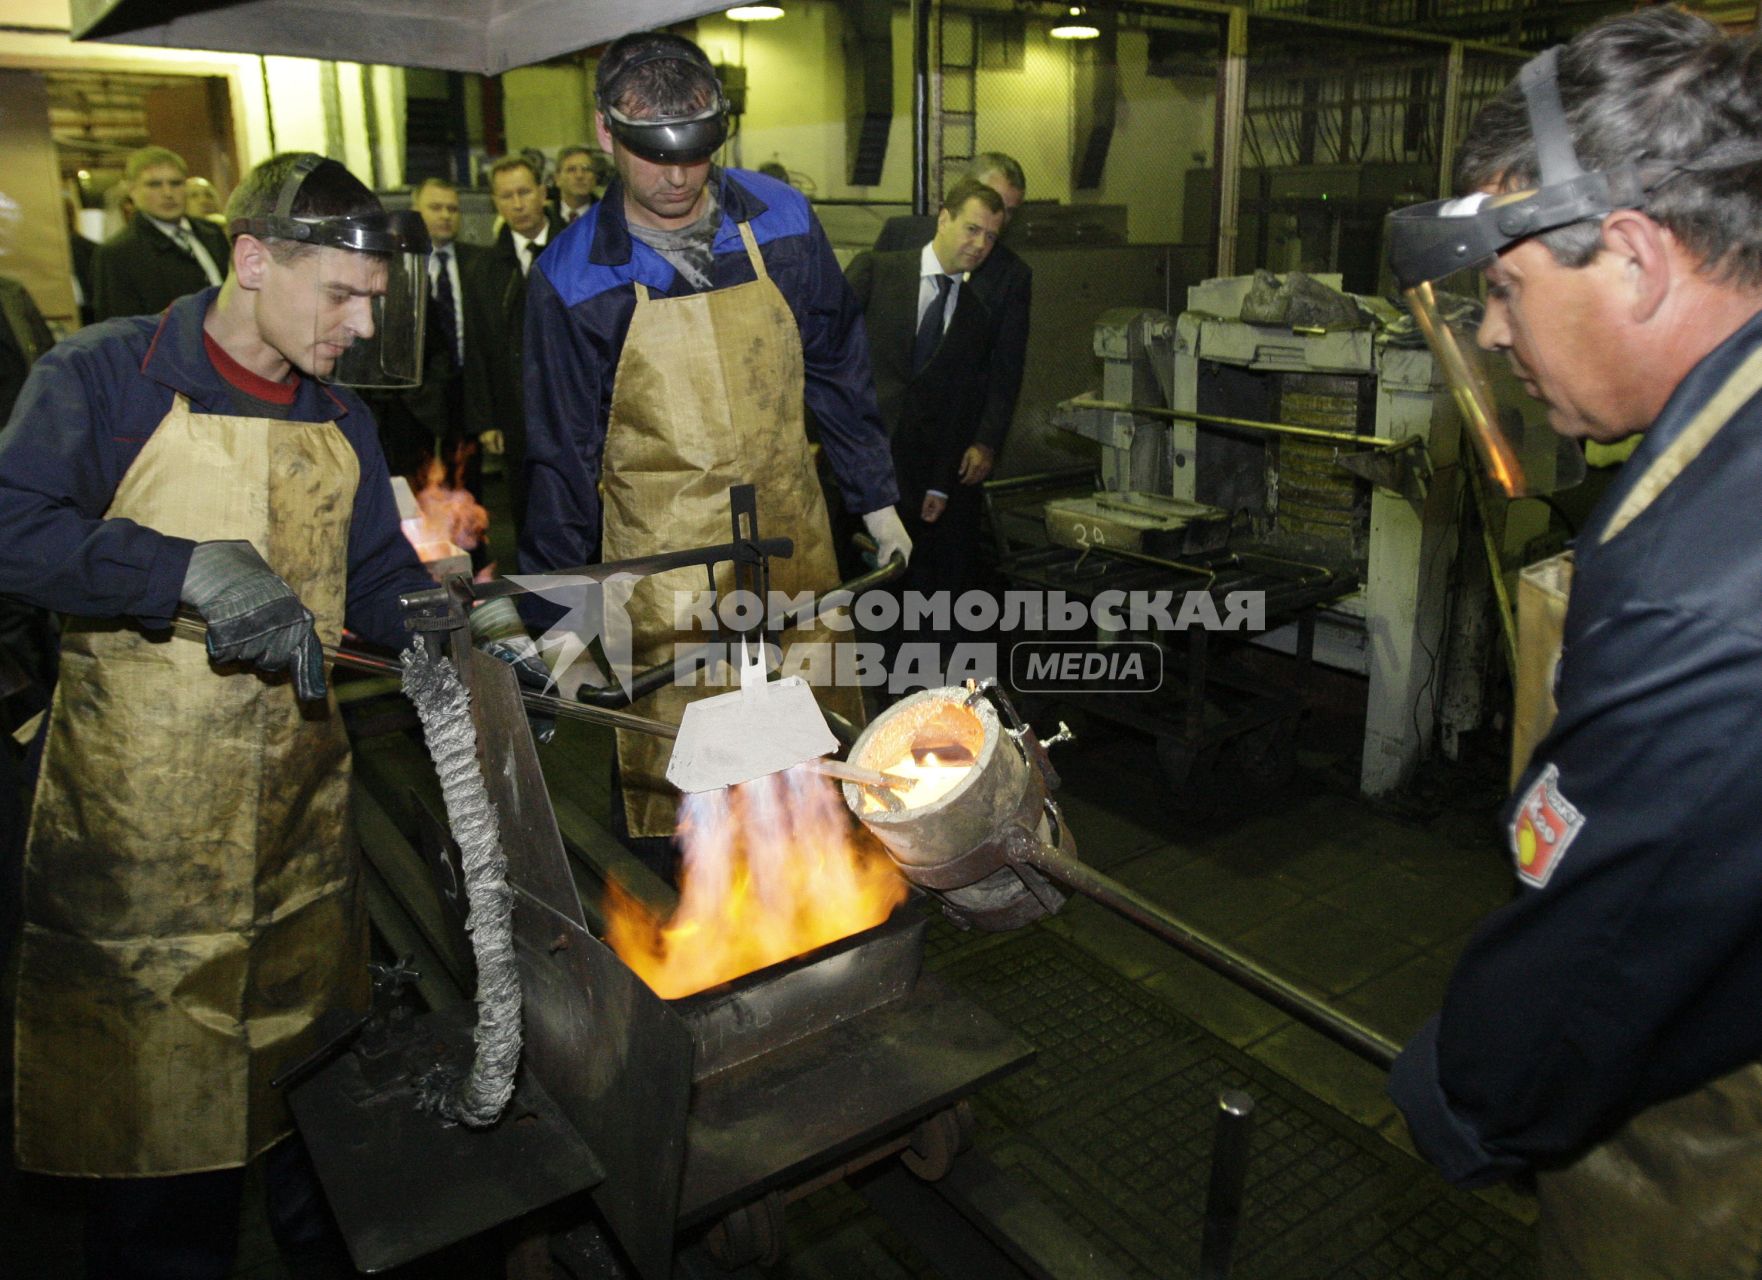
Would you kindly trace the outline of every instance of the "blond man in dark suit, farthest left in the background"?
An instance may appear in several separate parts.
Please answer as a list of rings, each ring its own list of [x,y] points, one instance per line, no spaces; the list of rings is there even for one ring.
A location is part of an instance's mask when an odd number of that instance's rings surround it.
[[[134,219],[92,256],[95,319],[157,316],[174,298],[226,279],[226,231],[185,217],[187,175],[183,157],[164,146],[129,153],[123,180]]]

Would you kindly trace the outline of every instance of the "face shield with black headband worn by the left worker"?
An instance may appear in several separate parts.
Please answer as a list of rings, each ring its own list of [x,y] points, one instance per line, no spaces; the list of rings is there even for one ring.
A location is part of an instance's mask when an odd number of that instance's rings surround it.
[[[303,157],[282,183],[273,215],[234,219],[229,229],[234,236],[294,240],[321,250],[312,349],[340,351],[328,370],[308,372],[340,386],[418,386],[428,307],[428,227],[414,210],[294,217],[300,189],[326,164],[337,162]]]

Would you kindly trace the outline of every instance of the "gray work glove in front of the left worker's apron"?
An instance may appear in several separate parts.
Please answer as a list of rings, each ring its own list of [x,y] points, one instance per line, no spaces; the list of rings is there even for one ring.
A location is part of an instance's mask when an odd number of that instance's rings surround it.
[[[178,596],[208,624],[208,656],[287,672],[294,696],[324,700],[324,645],[312,610],[245,541],[197,543]]]

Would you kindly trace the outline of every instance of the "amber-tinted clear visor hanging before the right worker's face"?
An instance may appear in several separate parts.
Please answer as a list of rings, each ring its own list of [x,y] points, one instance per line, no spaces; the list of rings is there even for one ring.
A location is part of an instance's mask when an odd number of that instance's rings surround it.
[[[1584,480],[1579,443],[1547,425],[1547,411],[1531,397],[1510,363],[1477,342],[1485,314],[1480,272],[1457,272],[1438,284],[1403,291],[1425,335],[1450,395],[1462,414],[1487,476],[1507,497],[1536,497]]]

